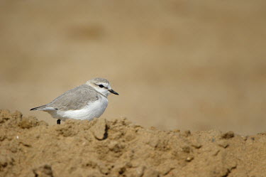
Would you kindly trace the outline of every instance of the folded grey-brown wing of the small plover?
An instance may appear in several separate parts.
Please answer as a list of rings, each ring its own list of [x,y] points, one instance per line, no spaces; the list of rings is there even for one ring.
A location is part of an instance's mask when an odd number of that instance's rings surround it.
[[[80,85],[72,90],[68,90],[59,97],[55,98],[46,107],[59,110],[77,110],[85,107],[89,102],[99,100],[97,92],[89,85]]]

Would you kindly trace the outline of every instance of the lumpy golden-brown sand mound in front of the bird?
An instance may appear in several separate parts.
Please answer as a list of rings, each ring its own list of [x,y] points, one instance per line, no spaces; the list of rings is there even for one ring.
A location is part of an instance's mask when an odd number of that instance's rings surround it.
[[[0,111],[0,176],[265,176],[266,134],[144,129],[127,119],[48,126]]]

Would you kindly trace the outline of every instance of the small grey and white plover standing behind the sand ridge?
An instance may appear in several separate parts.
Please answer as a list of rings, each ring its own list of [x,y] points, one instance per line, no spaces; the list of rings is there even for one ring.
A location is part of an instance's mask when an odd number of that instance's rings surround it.
[[[104,113],[111,93],[119,95],[108,80],[97,77],[68,90],[48,104],[30,110],[48,112],[57,119],[57,124],[66,119],[92,120]]]

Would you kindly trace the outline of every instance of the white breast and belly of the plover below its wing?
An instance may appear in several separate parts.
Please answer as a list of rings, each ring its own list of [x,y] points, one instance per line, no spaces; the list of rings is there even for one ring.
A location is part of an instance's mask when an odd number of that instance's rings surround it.
[[[61,119],[81,119],[92,120],[94,117],[100,117],[104,113],[108,105],[106,97],[101,96],[99,100],[95,102],[89,102],[87,106],[79,110],[60,111],[57,110],[57,116],[55,118]]]

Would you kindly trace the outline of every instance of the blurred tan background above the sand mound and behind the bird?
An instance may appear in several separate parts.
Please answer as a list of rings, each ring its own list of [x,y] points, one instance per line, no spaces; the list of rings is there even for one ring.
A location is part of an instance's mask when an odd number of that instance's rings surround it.
[[[94,77],[102,117],[143,127],[266,130],[265,1],[0,1],[0,108],[32,107]]]

